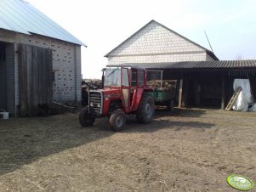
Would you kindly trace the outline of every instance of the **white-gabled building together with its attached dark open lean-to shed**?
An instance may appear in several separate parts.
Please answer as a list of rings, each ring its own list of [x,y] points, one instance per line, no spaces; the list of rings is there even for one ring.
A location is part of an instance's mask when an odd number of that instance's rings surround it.
[[[162,70],[179,80],[177,104],[225,108],[235,78],[248,78],[256,94],[256,60],[220,61],[213,52],[151,20],[106,54],[108,65],[137,65]]]

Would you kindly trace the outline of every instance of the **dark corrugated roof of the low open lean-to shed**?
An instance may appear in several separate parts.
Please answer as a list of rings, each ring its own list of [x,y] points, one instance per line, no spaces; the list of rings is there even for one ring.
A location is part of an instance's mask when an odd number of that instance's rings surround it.
[[[139,66],[147,69],[245,69],[255,68],[256,60],[213,60],[184,61],[170,63],[126,63],[122,65]]]

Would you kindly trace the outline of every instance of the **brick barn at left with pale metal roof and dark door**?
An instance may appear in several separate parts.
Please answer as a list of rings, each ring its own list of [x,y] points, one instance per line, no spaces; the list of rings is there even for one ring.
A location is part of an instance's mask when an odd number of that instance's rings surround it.
[[[1,0],[0,109],[37,116],[38,104],[81,106],[81,46],[30,3]]]

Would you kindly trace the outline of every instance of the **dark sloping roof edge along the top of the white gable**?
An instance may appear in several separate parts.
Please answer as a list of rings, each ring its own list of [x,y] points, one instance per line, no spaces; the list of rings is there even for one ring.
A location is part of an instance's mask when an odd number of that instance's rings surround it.
[[[199,48],[202,48],[203,50],[205,50],[207,52],[208,55],[210,55],[213,59],[215,60],[219,60],[215,54],[213,54],[212,51],[208,50],[207,48],[203,48],[201,45],[197,44],[196,42],[192,42],[190,39],[184,37],[184,36],[181,36],[179,33],[169,29],[167,26],[165,25],[162,25],[158,22],[156,22],[156,20],[151,20],[149,23],[147,23],[146,25],[144,25],[142,28],[139,29],[139,31],[136,31],[131,37],[128,37],[128,39],[126,39],[125,41],[123,41],[121,44],[119,44],[116,48],[113,48],[108,54],[105,54],[105,57],[108,57],[110,56],[111,53],[113,53],[114,51],[117,50],[117,48],[120,48],[125,42],[128,42],[130,39],[132,39],[136,34],[138,34],[140,31],[143,31],[148,25],[151,25],[152,23],[156,23],[157,25],[161,25],[163,28],[165,28],[166,30],[174,33],[175,35],[185,39],[186,41],[188,42],[191,42],[192,44],[196,45],[196,47],[199,47]]]

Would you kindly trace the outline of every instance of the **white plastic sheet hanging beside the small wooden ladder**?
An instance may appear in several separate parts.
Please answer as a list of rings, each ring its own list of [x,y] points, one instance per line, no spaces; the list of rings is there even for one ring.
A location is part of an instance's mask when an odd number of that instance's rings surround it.
[[[238,88],[242,88],[236,102],[233,106],[233,110],[247,111],[248,106],[253,104],[253,97],[251,93],[250,82],[248,79],[235,79],[233,84],[234,91]]]

